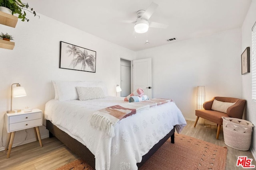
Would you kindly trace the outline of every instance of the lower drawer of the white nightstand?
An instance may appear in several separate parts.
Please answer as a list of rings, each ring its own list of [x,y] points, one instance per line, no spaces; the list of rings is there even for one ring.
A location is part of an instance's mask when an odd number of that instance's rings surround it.
[[[40,126],[41,123],[42,123],[42,119],[12,123],[12,124],[9,124],[9,131],[11,132],[11,131],[18,131],[22,129],[28,129],[30,127]]]

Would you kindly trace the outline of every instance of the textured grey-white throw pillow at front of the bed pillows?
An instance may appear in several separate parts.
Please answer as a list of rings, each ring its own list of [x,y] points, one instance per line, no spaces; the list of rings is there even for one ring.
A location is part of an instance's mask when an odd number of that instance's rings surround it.
[[[76,87],[79,100],[92,100],[105,98],[104,92],[100,87]]]

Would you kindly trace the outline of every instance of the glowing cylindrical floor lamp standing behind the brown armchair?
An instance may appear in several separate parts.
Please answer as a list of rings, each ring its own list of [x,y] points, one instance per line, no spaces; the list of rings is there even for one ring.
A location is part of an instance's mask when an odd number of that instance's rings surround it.
[[[204,86],[197,86],[196,93],[196,109],[204,109],[203,104],[205,102],[205,89]],[[198,124],[204,125],[205,120],[202,117],[199,117]]]

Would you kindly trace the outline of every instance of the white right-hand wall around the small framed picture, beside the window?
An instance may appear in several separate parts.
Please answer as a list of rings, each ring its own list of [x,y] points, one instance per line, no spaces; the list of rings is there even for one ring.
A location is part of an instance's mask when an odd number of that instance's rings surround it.
[[[242,25],[242,49],[240,53],[244,51],[246,47],[250,47],[250,56],[252,56],[252,26],[256,22],[256,0],[252,0],[250,9]],[[252,64],[252,57],[250,57],[250,64]],[[256,101],[252,100],[252,67],[250,67],[250,73],[242,76],[242,94],[246,99],[247,112],[245,119],[256,125]],[[256,158],[256,131],[255,127],[252,131],[252,143],[251,151]]]

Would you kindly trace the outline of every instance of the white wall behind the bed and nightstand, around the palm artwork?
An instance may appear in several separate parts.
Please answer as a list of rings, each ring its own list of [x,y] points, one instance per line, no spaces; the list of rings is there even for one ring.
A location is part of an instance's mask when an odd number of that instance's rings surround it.
[[[29,106],[44,111],[46,102],[54,98],[51,80],[104,80],[108,94],[115,96],[116,84],[120,84],[120,57],[134,58],[133,51],[39,15],[40,19],[28,14],[30,21],[19,20],[16,28],[0,25],[15,42],[13,50],[0,49],[0,150],[5,146],[4,113],[10,109],[12,83],[20,83],[27,92],[26,97],[14,98],[14,109]],[[60,41],[96,51],[96,73],[58,68]],[[34,131],[26,131],[16,133],[13,146],[35,140]],[[48,135],[45,127],[40,131],[42,137]]]

